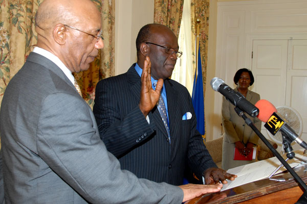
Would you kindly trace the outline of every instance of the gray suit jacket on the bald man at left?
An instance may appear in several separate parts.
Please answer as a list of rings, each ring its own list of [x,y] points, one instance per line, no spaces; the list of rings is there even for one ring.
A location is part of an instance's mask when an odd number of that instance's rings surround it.
[[[183,199],[179,187],[121,170],[99,137],[91,108],[59,67],[36,53],[7,86],[0,119],[7,204]]]

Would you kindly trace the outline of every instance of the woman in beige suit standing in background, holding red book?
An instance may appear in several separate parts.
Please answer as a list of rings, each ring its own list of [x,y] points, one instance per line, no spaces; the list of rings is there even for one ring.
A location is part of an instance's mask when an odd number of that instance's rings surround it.
[[[251,70],[243,68],[237,70],[233,78],[237,87],[234,89],[240,92],[250,103],[253,105],[260,100],[260,95],[253,91],[248,90],[248,87],[253,85],[254,76]],[[253,147],[258,143],[258,136],[248,126],[244,119],[239,117],[234,111],[234,106],[223,97],[222,105],[222,123],[224,126],[224,139],[223,139],[223,158],[222,168],[228,170],[237,166],[255,162],[247,160],[234,160],[234,148],[238,149],[240,155],[247,157],[253,154]],[[261,128],[261,121],[257,117],[250,117],[246,114],[255,124],[258,130]]]

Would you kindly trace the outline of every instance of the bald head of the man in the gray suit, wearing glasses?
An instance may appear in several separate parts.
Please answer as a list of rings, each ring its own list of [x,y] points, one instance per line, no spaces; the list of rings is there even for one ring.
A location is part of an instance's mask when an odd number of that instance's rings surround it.
[[[101,17],[90,0],[45,0],[35,16],[37,45],[72,72],[89,68],[103,48]]]

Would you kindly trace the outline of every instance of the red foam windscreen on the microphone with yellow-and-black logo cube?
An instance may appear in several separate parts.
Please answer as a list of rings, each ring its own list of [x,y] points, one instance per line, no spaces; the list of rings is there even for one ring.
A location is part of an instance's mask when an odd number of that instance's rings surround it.
[[[257,115],[257,117],[262,122],[267,122],[270,119],[271,115],[274,112],[277,112],[275,106],[266,99],[258,100],[257,103],[255,104],[255,107],[259,109],[259,114]]]

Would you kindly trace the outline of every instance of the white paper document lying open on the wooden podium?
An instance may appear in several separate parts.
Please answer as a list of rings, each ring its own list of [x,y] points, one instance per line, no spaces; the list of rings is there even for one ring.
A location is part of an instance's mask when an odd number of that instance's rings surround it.
[[[302,150],[296,150],[295,156],[299,157],[301,159],[307,160],[306,156],[303,156],[303,149]],[[286,159],[287,157],[283,157]],[[296,167],[300,164],[301,161],[297,159],[291,159],[288,160],[287,163],[293,168]],[[247,183],[251,183],[254,181],[258,181],[261,179],[266,179],[271,175],[271,173],[276,170],[276,168],[281,164],[281,162],[276,158],[270,158],[267,160],[262,160],[258,162],[254,162],[251,164],[235,167],[232,169],[229,169],[227,172],[236,174],[237,177],[235,178],[234,181],[229,181],[227,180],[227,184],[223,185],[223,188],[221,191],[225,191],[237,186],[241,186]],[[287,170],[284,166],[282,166],[276,173],[280,173],[282,171]],[[275,173],[275,174],[276,174]]]

